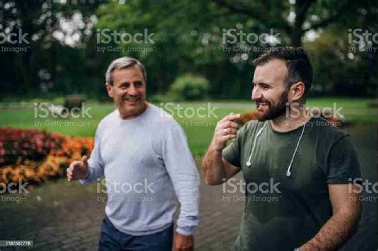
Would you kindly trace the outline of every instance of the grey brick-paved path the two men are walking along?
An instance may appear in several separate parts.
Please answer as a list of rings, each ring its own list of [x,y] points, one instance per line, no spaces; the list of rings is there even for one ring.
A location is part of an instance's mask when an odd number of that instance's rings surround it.
[[[376,182],[377,137],[358,138],[363,177]],[[222,186],[201,182],[201,224],[195,231],[195,250],[229,250],[239,232],[242,202],[223,201]],[[241,194],[232,194],[235,195]],[[372,195],[376,198],[376,194]],[[32,239],[33,250],[38,251],[96,250],[105,207],[97,196],[96,184],[81,186],[60,179],[37,187],[28,194],[27,202],[17,206],[0,200],[0,240]],[[4,250],[25,248],[0,247],[0,251]],[[341,250],[377,250],[376,202],[363,203],[360,228]]]

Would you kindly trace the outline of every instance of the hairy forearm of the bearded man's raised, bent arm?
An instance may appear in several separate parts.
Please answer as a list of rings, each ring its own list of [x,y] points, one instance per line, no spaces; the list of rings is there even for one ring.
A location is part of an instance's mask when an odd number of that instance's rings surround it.
[[[222,151],[209,147],[202,159],[202,172],[206,183],[211,185],[223,183],[222,178],[226,177],[226,170],[222,161]]]

